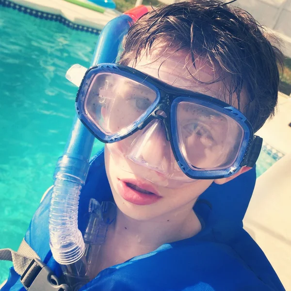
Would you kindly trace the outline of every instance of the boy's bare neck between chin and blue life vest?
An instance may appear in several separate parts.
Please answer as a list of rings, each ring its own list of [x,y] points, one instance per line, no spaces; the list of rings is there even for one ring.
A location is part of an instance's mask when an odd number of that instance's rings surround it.
[[[192,204],[193,205],[193,204]],[[176,242],[194,236],[201,224],[192,207],[167,213],[167,217],[141,221],[130,218],[117,210],[115,224],[108,229],[106,243],[94,269],[101,270],[122,263],[130,258],[154,251],[166,242]]]

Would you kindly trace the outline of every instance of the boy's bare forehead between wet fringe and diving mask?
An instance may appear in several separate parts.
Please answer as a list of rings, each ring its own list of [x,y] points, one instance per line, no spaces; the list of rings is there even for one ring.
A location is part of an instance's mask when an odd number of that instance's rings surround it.
[[[218,68],[204,57],[195,56],[194,66],[185,51],[170,53],[156,49],[154,53],[141,55],[134,65],[137,70],[169,85],[218,98],[238,108],[237,96],[233,94],[230,100],[227,82],[217,81]]]

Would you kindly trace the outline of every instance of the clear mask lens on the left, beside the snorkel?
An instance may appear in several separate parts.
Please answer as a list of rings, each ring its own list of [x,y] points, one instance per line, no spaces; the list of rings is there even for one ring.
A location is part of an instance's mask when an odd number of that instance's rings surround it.
[[[85,97],[85,110],[106,135],[124,135],[156,98],[156,92],[143,84],[117,74],[99,73]]]

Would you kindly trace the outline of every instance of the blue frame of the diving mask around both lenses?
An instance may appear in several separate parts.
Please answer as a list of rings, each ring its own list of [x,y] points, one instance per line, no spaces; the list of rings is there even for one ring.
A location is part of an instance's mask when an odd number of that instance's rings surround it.
[[[97,125],[88,117],[85,110],[86,95],[96,74],[99,73],[114,73],[127,77],[133,81],[142,83],[156,92],[157,98],[155,102],[146,110],[145,113],[137,119],[128,130],[123,134],[115,133],[106,135]],[[226,169],[219,170],[202,170],[199,168],[191,168],[186,162],[184,156],[179,150],[178,131],[177,131],[177,106],[181,101],[191,101],[195,99],[195,103],[206,106],[217,112],[226,114],[234,119],[243,129],[244,136],[239,153],[233,164]],[[247,121],[246,117],[236,108],[229,104],[201,93],[196,93],[189,90],[173,87],[154,77],[146,75],[134,68],[116,65],[116,64],[100,64],[93,66],[87,70],[81,82],[80,88],[76,97],[76,110],[81,122],[93,133],[93,135],[103,143],[114,143],[121,141],[137,130],[144,129],[154,119],[162,120],[166,129],[167,140],[171,143],[171,147],[176,161],[180,169],[190,178],[194,179],[216,179],[226,178],[238,172],[242,166],[253,167],[259,157],[259,152],[262,145],[262,138],[253,134],[253,128]],[[162,111],[166,116],[157,114]]]

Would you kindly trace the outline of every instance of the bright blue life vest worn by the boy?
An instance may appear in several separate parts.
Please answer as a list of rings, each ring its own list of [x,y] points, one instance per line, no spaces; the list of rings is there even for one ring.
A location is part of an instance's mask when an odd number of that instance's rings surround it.
[[[192,238],[166,243],[155,251],[107,268],[83,291],[283,291],[262,250],[243,230],[242,218],[256,181],[255,169],[224,185],[212,184],[194,206],[203,229]],[[25,240],[56,275],[61,270],[49,249],[47,194],[33,215]],[[79,228],[88,221],[90,198],[112,200],[104,151],[90,162],[79,206]],[[13,268],[1,291],[25,291]]]

